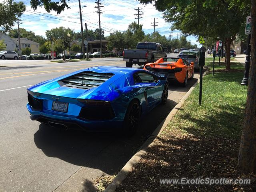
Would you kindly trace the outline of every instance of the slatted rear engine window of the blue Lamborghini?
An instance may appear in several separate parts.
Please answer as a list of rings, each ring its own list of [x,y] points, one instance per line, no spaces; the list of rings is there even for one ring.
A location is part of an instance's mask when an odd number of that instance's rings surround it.
[[[114,74],[112,73],[96,73],[96,72],[82,72],[68,78],[61,80],[64,83],[71,85],[78,85],[87,88],[98,87],[102,83],[106,82]]]

